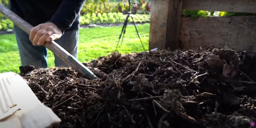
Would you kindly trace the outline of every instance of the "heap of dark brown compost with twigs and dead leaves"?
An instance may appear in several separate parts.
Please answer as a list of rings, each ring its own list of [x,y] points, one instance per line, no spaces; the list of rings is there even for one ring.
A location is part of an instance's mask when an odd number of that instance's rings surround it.
[[[70,68],[20,67],[60,128],[249,128],[256,121],[256,54],[211,49],[111,53]]]

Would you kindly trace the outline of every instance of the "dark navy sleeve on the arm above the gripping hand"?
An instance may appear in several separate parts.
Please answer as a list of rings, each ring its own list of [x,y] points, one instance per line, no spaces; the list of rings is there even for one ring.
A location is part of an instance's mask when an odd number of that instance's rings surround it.
[[[86,0],[63,0],[58,10],[48,22],[52,22],[61,29],[62,33],[70,28],[79,15]]]

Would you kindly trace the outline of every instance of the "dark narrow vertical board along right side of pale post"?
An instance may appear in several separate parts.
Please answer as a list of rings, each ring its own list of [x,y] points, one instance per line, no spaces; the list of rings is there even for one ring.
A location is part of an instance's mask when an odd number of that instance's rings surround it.
[[[180,18],[183,0],[169,0],[169,12],[165,48],[176,50],[179,47]]]

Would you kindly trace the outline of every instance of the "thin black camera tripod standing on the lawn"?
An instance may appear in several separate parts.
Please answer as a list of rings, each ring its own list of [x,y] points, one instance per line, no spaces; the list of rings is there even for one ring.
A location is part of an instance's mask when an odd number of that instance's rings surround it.
[[[138,32],[138,29],[137,29],[136,24],[135,24],[135,22],[134,22],[133,15],[130,14],[130,10],[131,10],[131,0],[129,0],[129,10],[128,10],[128,14],[127,14],[127,17],[126,17],[126,19],[125,19],[124,25],[123,25],[123,27],[122,27],[122,31],[121,31],[121,33],[120,33],[119,40],[118,40],[117,45],[116,45],[116,50],[117,50],[117,47],[118,47],[118,45],[119,45],[119,42],[120,42],[120,39],[121,39],[122,34],[123,34],[123,36],[122,36],[122,42],[123,42],[123,40],[124,40],[125,31],[126,31],[126,26],[127,26],[127,23],[128,23],[128,18],[131,17],[132,22],[133,22],[133,24],[134,24],[134,27],[135,27],[135,29],[136,29],[136,31],[137,31],[137,35],[138,35],[139,38],[140,38],[140,43],[141,43],[141,45],[142,45],[142,47],[143,47],[143,50],[145,51],[145,48],[144,48],[143,43],[142,43],[142,41],[141,41],[140,33]],[[122,42],[121,42],[121,45],[122,45]]]

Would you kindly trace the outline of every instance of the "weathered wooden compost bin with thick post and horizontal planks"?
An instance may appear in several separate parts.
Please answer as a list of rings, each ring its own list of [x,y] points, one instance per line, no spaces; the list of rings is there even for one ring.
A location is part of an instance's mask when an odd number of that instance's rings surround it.
[[[182,9],[256,13],[256,0],[152,0],[149,50],[215,48],[256,51],[256,16],[181,17]]]

